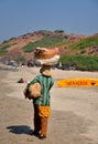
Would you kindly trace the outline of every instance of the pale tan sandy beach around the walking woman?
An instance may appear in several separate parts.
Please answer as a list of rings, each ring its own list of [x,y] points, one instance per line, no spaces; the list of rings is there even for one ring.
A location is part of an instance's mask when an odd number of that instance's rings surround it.
[[[98,144],[98,86],[58,88],[56,82],[68,78],[97,78],[98,72],[53,69],[52,113],[45,140],[31,135],[32,101],[25,100],[26,83],[40,68],[0,69],[0,144]]]

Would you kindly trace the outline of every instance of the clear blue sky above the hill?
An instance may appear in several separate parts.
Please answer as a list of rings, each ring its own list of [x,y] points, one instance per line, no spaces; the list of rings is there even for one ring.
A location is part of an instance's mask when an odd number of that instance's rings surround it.
[[[0,0],[0,43],[39,30],[98,33],[98,0]]]

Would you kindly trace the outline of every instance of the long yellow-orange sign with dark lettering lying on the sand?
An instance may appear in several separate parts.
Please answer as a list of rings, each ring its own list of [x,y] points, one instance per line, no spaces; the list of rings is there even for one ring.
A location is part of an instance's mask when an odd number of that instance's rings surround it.
[[[76,78],[57,81],[57,86],[98,86],[98,79]]]

